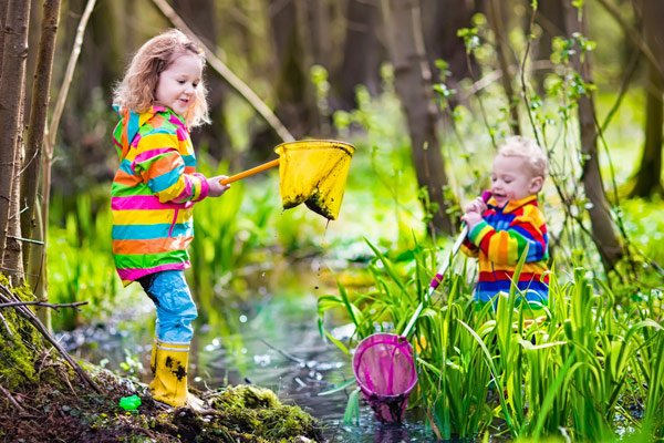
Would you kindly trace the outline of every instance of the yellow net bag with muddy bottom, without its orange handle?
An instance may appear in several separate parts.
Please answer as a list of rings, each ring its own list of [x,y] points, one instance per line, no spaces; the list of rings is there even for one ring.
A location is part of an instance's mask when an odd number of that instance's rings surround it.
[[[282,143],[274,151],[283,208],[304,203],[323,217],[336,219],[355,147],[331,140],[303,140]]]

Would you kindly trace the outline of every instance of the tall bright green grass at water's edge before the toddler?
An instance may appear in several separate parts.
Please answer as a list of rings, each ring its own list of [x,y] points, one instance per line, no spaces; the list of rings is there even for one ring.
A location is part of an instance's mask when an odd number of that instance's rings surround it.
[[[328,312],[347,312],[356,334],[338,343],[346,352],[386,324],[398,333],[434,272],[430,256],[421,248],[394,261],[375,249],[371,288],[354,293],[341,286],[339,297],[322,297],[321,328]],[[466,270],[446,277],[412,337],[419,383],[411,404],[426,411],[438,437],[490,431],[539,441],[563,437],[564,430],[574,441],[594,442],[644,424],[653,437],[664,436],[662,296],[619,307],[592,272],[577,267],[562,281],[558,274],[547,320],[532,323],[515,288],[494,311],[471,301]],[[643,421],[633,408],[643,408]]]

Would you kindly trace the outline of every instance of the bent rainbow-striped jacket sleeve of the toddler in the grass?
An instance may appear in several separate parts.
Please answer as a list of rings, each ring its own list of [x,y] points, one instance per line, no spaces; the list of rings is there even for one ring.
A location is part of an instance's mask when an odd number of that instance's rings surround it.
[[[488,260],[513,266],[528,249],[526,262],[548,258],[548,235],[542,213],[527,206],[505,230],[496,230],[486,220],[478,223],[468,234],[470,241],[486,254]]]

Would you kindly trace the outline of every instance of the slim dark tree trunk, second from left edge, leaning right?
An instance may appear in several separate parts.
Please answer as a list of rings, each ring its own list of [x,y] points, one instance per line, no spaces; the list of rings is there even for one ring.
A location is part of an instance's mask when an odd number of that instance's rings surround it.
[[[32,85],[32,102],[30,105],[30,125],[25,141],[25,164],[21,176],[21,233],[23,237],[31,238],[37,226],[34,215],[39,205],[37,188],[41,167],[42,146],[49,110],[49,90],[51,87],[51,71],[53,68],[53,53],[55,51],[55,35],[60,19],[60,0],[45,0],[43,2],[41,37],[37,55],[37,69]],[[25,245],[23,250],[24,262],[29,260],[33,247]]]

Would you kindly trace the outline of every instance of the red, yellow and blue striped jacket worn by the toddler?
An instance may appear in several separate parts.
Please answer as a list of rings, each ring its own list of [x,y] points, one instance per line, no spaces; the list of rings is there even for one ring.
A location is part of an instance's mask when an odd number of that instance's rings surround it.
[[[478,258],[475,299],[487,302],[500,291],[509,293],[517,262],[528,250],[517,287],[532,308],[546,305],[549,299],[549,237],[537,196],[508,202],[502,208],[495,206],[494,198],[487,205],[484,220],[473,228],[461,246],[466,255]]]

